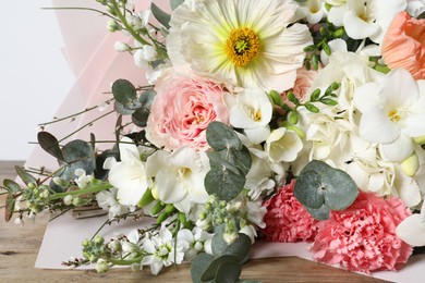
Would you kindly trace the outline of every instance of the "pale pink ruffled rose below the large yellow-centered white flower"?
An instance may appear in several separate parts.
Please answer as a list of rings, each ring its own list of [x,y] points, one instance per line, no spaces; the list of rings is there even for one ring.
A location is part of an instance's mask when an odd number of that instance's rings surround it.
[[[157,147],[173,150],[190,146],[198,151],[209,148],[206,128],[211,121],[228,123],[223,102],[226,87],[204,77],[166,76],[158,82],[150,108],[146,137]]]

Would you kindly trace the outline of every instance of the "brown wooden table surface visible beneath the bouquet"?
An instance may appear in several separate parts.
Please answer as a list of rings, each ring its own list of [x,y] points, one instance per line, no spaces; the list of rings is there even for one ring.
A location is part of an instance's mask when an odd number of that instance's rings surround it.
[[[0,182],[14,179],[13,167],[20,161],[0,161]],[[0,198],[3,204],[4,198]],[[150,274],[149,268],[142,271],[113,269],[105,275],[96,271],[35,269],[38,248],[45,233],[48,216],[39,217],[36,223],[17,226],[4,223],[4,209],[0,209],[0,282],[191,282],[190,266],[166,268],[160,275]],[[242,279],[263,282],[385,282],[366,275],[347,272],[326,264],[296,257],[270,258],[248,261]]]

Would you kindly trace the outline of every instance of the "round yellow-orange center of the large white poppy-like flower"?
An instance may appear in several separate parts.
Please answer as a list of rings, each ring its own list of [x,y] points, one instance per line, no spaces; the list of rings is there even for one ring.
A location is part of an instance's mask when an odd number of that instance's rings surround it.
[[[258,35],[248,27],[241,27],[230,32],[224,51],[233,64],[245,66],[257,57],[259,47]]]

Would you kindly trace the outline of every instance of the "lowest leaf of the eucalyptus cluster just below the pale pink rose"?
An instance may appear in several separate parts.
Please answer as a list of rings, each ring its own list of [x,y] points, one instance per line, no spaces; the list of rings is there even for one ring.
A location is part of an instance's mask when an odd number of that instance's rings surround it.
[[[227,168],[212,168],[204,180],[209,195],[217,195],[220,200],[230,201],[235,198],[245,185],[245,176],[235,174]]]

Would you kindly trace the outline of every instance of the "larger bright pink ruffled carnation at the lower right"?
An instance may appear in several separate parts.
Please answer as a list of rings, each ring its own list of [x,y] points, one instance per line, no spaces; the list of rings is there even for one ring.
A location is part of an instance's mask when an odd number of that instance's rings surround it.
[[[396,235],[397,225],[410,214],[398,198],[362,192],[349,208],[331,211],[329,220],[318,224],[313,258],[351,271],[396,270],[413,250]]]

